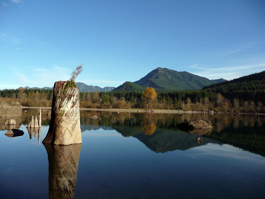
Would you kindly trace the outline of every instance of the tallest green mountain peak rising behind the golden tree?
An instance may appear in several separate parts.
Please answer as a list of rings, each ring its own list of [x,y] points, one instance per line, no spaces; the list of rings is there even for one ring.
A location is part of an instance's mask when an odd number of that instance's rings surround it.
[[[168,68],[156,68],[133,83],[143,87],[153,87],[164,90],[187,90],[200,89],[206,85],[214,84],[215,82],[186,71],[178,72]]]

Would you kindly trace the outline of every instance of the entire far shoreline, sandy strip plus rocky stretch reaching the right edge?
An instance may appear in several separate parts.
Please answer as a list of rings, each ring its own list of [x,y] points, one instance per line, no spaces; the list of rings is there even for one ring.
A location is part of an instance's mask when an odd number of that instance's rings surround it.
[[[45,107],[45,106],[22,106],[22,109],[49,109],[51,110],[52,107]],[[119,109],[119,108],[79,108],[82,111],[112,111],[112,112],[149,112],[144,109]],[[154,113],[174,113],[174,114],[183,114],[183,113],[189,113],[189,114],[199,114],[197,111],[182,111],[182,110],[172,110],[172,109],[162,109],[162,110],[152,110],[150,112]],[[200,113],[200,114],[227,114],[227,113]],[[229,114],[239,114],[239,115],[265,115],[264,113],[229,113]]]

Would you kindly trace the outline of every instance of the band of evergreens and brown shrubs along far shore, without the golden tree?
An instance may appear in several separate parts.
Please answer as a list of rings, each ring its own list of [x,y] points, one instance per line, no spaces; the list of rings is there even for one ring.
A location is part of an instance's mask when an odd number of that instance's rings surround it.
[[[251,84],[253,81],[249,82]],[[221,90],[214,85],[198,90],[158,91],[152,108],[217,112],[265,111],[264,83],[261,82],[256,89],[249,89],[245,84],[244,90],[231,90],[233,84],[229,88],[223,84]],[[0,95],[2,101],[18,101],[22,106],[51,106],[53,90],[20,87],[0,90]],[[80,107],[84,108],[150,108],[142,91],[80,92],[79,97]]]

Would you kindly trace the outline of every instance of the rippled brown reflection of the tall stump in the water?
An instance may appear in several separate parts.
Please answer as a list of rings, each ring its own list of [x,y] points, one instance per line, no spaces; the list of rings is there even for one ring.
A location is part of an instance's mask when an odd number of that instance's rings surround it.
[[[43,144],[49,161],[49,198],[74,198],[82,144]]]

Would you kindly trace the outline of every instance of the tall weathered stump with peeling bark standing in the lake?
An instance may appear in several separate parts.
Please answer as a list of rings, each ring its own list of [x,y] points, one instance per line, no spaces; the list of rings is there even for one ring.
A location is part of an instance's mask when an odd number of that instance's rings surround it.
[[[42,143],[54,145],[81,144],[79,92],[67,81],[54,83],[52,114],[47,136]]]

